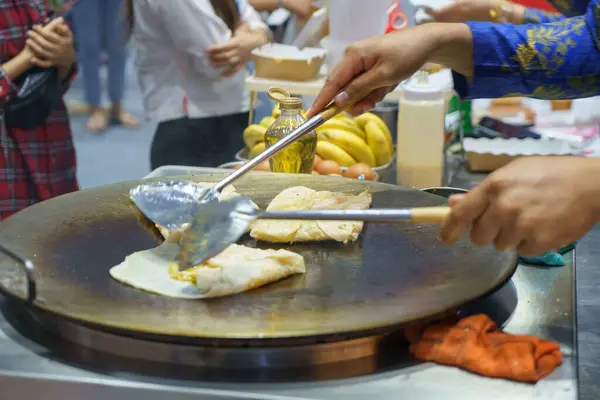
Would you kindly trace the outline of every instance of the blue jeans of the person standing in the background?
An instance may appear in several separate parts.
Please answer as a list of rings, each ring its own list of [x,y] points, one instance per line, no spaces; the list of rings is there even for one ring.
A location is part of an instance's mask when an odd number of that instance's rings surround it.
[[[100,106],[102,51],[108,56],[108,96],[113,104],[123,99],[126,54],[126,24],[123,0],[85,0],[73,8],[79,67],[85,100]]]

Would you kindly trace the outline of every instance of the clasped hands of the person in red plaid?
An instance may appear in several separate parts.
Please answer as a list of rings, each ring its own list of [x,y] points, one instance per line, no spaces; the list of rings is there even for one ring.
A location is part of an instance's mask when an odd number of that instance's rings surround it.
[[[26,47],[33,54],[34,65],[69,68],[75,61],[73,33],[63,18],[56,18],[46,26],[34,25],[27,35]]]

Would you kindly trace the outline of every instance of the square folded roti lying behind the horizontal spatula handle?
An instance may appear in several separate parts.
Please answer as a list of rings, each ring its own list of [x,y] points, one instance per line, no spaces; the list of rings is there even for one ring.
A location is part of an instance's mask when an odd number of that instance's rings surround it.
[[[371,207],[368,191],[359,195],[317,192],[303,186],[279,193],[269,204],[269,211],[299,210],[366,210]],[[256,221],[250,236],[271,243],[317,242],[334,240],[352,242],[363,229],[362,221]]]

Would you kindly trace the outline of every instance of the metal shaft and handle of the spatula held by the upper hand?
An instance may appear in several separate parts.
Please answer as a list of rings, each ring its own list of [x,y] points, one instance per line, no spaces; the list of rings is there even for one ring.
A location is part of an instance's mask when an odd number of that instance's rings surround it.
[[[221,182],[217,183],[213,187],[213,191],[221,192],[223,189],[231,185],[234,181],[236,181],[246,172],[254,169],[263,161],[266,161],[269,158],[273,157],[276,153],[285,149],[287,146],[294,143],[296,140],[300,139],[305,134],[323,125],[326,121],[329,121],[331,118],[335,117],[341,112],[351,109],[357,102],[358,100],[351,101],[344,107],[338,107],[335,103],[329,104],[319,114],[315,115],[296,129],[288,133],[283,139],[270,146],[268,149],[260,153],[258,156],[254,157],[252,160],[248,161],[246,164],[242,165],[241,168],[227,175],[225,179],[223,179]]]

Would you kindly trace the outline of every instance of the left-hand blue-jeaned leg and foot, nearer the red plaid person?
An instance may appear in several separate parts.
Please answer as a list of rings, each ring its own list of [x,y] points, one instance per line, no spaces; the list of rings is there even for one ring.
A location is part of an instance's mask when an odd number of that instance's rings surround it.
[[[106,128],[100,96],[100,10],[103,0],[83,1],[73,9],[73,22],[78,36],[79,65],[83,75],[85,100],[90,107],[88,128],[99,132]]]

